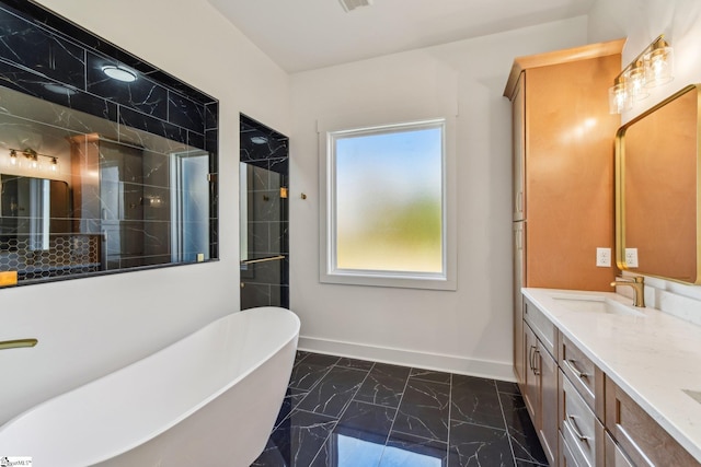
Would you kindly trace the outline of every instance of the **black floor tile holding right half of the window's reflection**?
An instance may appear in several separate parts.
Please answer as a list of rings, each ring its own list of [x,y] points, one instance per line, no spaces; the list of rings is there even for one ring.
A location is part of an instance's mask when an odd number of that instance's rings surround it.
[[[391,432],[380,467],[447,467],[448,443]]]

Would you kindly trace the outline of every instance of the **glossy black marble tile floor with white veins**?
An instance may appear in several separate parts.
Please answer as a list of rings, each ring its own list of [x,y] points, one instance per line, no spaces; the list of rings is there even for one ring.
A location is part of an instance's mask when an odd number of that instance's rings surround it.
[[[515,383],[298,352],[253,466],[547,464]]]

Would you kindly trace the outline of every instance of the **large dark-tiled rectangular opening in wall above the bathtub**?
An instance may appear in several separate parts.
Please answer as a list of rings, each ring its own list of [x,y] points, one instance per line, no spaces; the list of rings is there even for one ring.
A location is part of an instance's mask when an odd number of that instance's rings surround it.
[[[0,272],[216,259],[217,101],[32,2],[0,36]]]

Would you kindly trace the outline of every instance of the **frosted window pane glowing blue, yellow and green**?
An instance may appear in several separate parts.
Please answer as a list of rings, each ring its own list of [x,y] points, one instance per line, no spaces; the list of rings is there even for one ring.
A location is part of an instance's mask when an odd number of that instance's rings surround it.
[[[445,277],[445,124],[329,133],[330,272]]]

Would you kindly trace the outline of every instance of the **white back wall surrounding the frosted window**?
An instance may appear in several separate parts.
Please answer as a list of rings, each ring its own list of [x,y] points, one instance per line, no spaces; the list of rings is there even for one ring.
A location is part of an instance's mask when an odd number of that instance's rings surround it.
[[[586,33],[581,16],[291,77],[290,303],[300,348],[513,378],[510,104],[502,94],[515,57],[584,45]],[[317,121],[434,117],[456,103],[458,290],[320,283]]]

